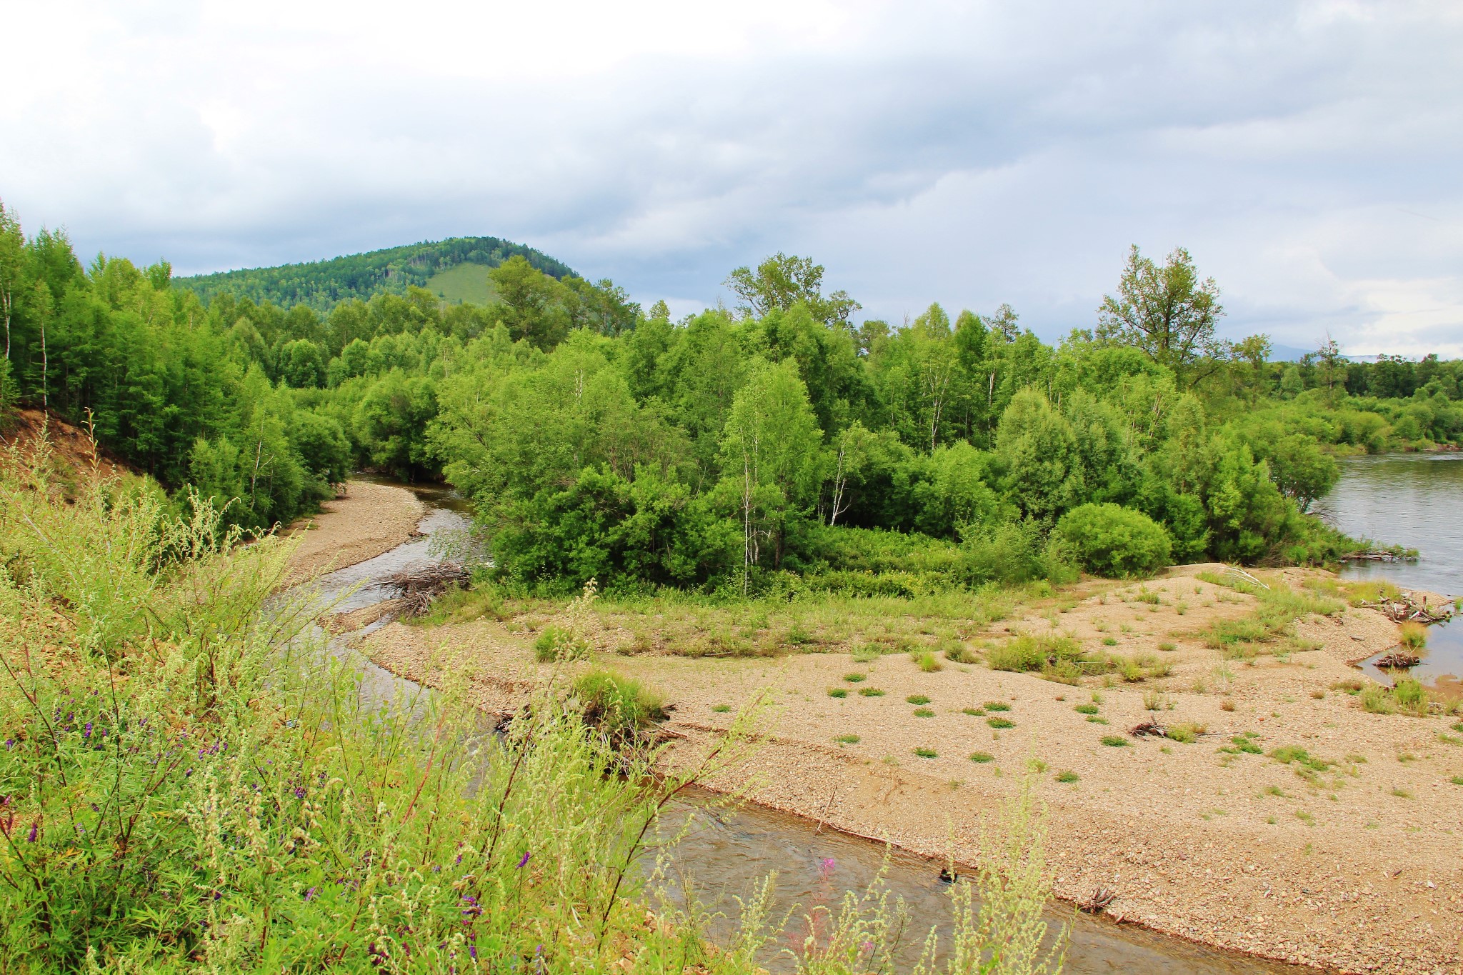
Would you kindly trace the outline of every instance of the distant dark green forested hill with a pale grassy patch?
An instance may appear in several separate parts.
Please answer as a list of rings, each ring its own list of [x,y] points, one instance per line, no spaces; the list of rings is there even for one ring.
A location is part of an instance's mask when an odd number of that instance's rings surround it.
[[[448,301],[483,301],[490,297],[487,269],[515,256],[553,278],[573,276],[563,262],[524,244],[497,237],[452,237],[303,265],[174,278],[173,285],[193,291],[205,303],[231,294],[255,304],[269,301],[285,308],[303,304],[322,313],[353,298],[405,294],[408,287],[427,288]]]

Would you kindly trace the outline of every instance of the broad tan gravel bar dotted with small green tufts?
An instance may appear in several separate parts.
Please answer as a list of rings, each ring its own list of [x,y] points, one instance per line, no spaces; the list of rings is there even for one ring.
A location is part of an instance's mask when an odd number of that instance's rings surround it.
[[[712,784],[755,782],[761,804],[969,861],[980,811],[1033,766],[1050,808],[1061,898],[1081,900],[1107,887],[1118,895],[1115,917],[1265,957],[1347,972],[1459,972],[1463,786],[1453,776],[1463,776],[1463,732],[1450,728],[1457,719],[1366,713],[1334,687],[1358,680],[1349,661],[1396,643],[1396,627],[1371,610],[1299,621],[1298,636],[1318,649],[1252,665],[1222,659],[1197,629],[1248,614],[1254,599],[1195,572],[1150,582],[1160,604],[1124,598],[1135,586],[1097,583],[1061,614],[993,627],[993,636],[1059,629],[1093,649],[1159,652],[1172,674],[1144,684],[1071,687],[951,662],[922,672],[907,655],[854,664],[847,653],[609,652],[594,662],[666,694],[674,705],[669,726],[685,735],[679,750],[730,724],[715,707],[742,706],[768,688],[774,706],[764,747],[749,767]],[[1299,577],[1270,576],[1273,583]],[[420,681],[467,677],[475,703],[511,710],[544,674],[531,640],[533,631],[484,618],[392,623],[363,646]],[[847,681],[849,674],[865,678]],[[857,693],[870,687],[884,694]],[[847,693],[831,697],[830,688]],[[929,703],[916,713],[910,696]],[[992,718],[1012,726],[992,726]],[[1127,734],[1150,718],[1207,731],[1192,744]],[[1105,735],[1128,744],[1105,746]],[[1254,743],[1251,750],[1236,748],[1236,737]],[[1311,770],[1270,756],[1285,746],[1333,765]],[[990,759],[973,762],[974,753]],[[1064,772],[1075,779],[1058,781]]]

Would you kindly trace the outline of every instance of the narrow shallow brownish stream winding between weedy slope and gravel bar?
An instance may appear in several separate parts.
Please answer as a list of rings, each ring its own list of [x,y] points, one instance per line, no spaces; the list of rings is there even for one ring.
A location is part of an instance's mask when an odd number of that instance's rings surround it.
[[[432,535],[467,528],[467,507],[461,498],[442,488],[413,488],[427,503],[427,516],[417,538],[375,558],[334,572],[319,582],[323,599],[339,598],[338,610],[356,610],[380,602],[386,592],[376,583],[386,574],[411,564],[435,558]],[[351,591],[354,588],[354,591]],[[366,633],[379,626],[373,623]],[[360,650],[350,648],[348,637],[329,642],[339,659],[360,667],[363,703],[385,705],[417,700],[430,694],[415,681],[396,677],[377,667]],[[486,724],[486,722],[484,722]],[[480,729],[481,731],[481,729]],[[919,957],[925,934],[936,918],[948,917],[947,884],[939,880],[941,864],[914,854],[821,829],[797,816],[746,805],[736,810],[705,808],[708,792],[688,791],[669,807],[663,835],[674,835],[686,817],[693,817],[688,832],[670,851],[667,895],[685,898],[689,887],[701,906],[736,915],[734,896],[746,898],[753,886],[771,873],[777,874],[772,918],[781,918],[799,905],[794,922],[805,911],[818,905],[837,906],[846,890],[863,890],[885,867],[885,884],[910,906],[911,930],[906,936],[900,969],[911,968]],[[652,857],[647,857],[647,870]],[[1067,972],[1097,974],[1125,972],[1131,975],[1229,975],[1238,972],[1314,972],[1315,969],[1265,962],[1238,952],[1225,952],[1179,938],[1166,937],[1131,925],[1119,925],[1102,918],[1077,914],[1065,905],[1053,905],[1048,924],[1055,933],[1062,924],[1071,930]],[[948,925],[942,925],[948,927]],[[732,921],[712,922],[712,936],[727,934]],[[789,928],[799,940],[803,930]],[[771,946],[790,947],[789,936]],[[942,937],[942,941],[947,938]],[[789,971],[777,957],[765,960],[772,971]]]

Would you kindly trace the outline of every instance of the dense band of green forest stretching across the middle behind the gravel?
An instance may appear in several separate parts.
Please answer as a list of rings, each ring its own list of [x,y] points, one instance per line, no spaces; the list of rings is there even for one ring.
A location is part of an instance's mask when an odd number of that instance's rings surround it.
[[[1053,346],[1009,307],[854,323],[783,254],[732,272],[734,310],[679,322],[522,254],[487,272],[490,304],[407,285],[322,314],[205,303],[165,263],[83,266],[64,234],[3,221],[4,403],[91,411],[105,446],[249,528],[353,468],[445,477],[496,572],[540,589],[1321,561],[1350,545],[1305,513],[1337,456],[1463,440],[1463,363],[1270,363],[1264,336],[1216,338],[1217,287],[1182,250],[1134,249]]]

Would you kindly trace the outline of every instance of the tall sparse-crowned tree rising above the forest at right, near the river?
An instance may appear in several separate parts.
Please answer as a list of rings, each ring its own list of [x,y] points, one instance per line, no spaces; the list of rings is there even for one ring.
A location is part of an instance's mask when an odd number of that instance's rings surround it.
[[[1214,336],[1223,314],[1219,285],[1200,281],[1185,249],[1175,247],[1160,268],[1134,244],[1118,295],[1105,295],[1097,308],[1097,338],[1140,348],[1192,384],[1227,358],[1229,345]]]

